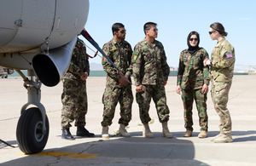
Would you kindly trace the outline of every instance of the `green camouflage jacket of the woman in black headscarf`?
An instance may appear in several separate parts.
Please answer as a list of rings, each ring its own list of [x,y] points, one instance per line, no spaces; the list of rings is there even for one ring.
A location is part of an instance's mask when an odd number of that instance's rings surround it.
[[[207,58],[206,49],[200,48],[194,54],[184,49],[179,57],[177,85],[182,89],[201,89],[204,83],[209,84],[209,67],[203,65]]]

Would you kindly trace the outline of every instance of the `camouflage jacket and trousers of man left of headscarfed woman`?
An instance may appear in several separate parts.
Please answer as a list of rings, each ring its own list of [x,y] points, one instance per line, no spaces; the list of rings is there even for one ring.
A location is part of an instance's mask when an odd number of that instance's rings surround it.
[[[154,40],[150,45],[146,38],[137,43],[132,63],[135,85],[142,84],[144,89],[143,92],[136,93],[142,123],[146,124],[151,120],[148,114],[151,98],[154,100],[160,123],[168,122],[170,111],[166,104],[164,83],[168,79],[170,67],[166,62],[162,43]]]

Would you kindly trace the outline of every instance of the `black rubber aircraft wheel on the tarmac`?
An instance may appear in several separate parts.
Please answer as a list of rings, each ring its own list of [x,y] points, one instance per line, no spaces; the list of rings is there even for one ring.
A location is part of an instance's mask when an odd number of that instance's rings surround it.
[[[25,154],[38,153],[44,150],[49,136],[49,121],[45,117],[46,133],[43,133],[43,119],[37,107],[23,112],[17,124],[16,137],[20,151]]]

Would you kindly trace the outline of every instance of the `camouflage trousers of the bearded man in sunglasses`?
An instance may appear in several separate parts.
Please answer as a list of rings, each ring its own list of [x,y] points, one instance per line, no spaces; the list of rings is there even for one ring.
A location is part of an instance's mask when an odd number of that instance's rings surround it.
[[[106,87],[102,96],[102,103],[104,105],[102,126],[110,126],[112,124],[115,107],[118,102],[120,105],[119,123],[127,126],[131,121],[131,106],[133,102],[131,84],[123,87],[119,85]]]

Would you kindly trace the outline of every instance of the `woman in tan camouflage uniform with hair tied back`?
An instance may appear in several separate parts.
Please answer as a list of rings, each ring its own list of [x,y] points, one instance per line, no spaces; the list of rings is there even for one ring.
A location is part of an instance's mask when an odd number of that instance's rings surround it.
[[[220,134],[213,137],[212,141],[215,143],[231,142],[233,141],[232,123],[227,103],[235,66],[235,49],[225,39],[228,33],[225,32],[222,24],[213,23],[210,26],[209,34],[212,40],[218,40],[217,45],[212,49],[211,60],[204,60],[205,66],[211,66],[212,102],[220,117]]]

